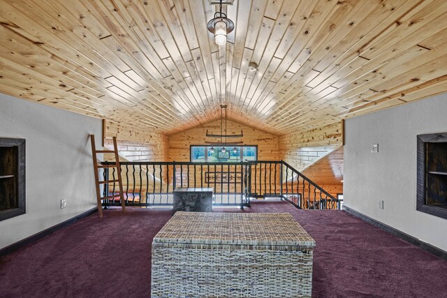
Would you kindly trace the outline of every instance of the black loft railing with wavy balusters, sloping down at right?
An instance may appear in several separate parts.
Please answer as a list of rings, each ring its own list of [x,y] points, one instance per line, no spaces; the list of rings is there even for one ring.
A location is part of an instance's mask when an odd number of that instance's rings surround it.
[[[281,198],[300,209],[339,209],[336,198],[284,161],[122,162],[121,167],[128,206],[168,207],[175,188],[212,187],[215,206],[243,209],[250,206],[250,199]],[[103,176],[115,180],[115,170],[105,168]],[[117,187],[104,184],[104,195],[116,193]],[[119,201],[106,200],[104,204],[119,205]]]

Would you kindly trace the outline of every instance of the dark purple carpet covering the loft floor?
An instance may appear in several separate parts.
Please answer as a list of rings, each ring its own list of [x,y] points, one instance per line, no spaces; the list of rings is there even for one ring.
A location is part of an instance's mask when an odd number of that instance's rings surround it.
[[[447,297],[447,261],[344,211],[278,201],[243,212],[288,212],[314,237],[312,297]],[[170,214],[109,209],[10,253],[0,297],[149,297],[152,238]]]

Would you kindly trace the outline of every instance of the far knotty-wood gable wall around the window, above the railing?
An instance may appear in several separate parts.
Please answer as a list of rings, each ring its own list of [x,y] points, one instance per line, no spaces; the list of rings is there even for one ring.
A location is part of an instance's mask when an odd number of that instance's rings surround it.
[[[234,121],[227,121],[227,131],[230,134],[240,134],[243,131],[242,140],[244,145],[258,145],[258,159],[263,161],[277,161],[281,159],[279,152],[279,137],[258,131],[255,128],[238,124]],[[196,126],[187,131],[170,135],[169,137],[169,161],[189,161],[189,147],[191,145],[204,145],[206,141],[219,142],[217,139],[205,137],[206,132],[220,134],[220,120],[212,121],[209,124]],[[228,139],[228,141],[231,141]]]

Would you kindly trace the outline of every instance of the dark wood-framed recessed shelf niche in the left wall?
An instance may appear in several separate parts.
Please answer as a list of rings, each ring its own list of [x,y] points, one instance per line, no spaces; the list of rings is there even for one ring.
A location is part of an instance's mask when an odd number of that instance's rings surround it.
[[[0,221],[25,213],[25,140],[0,137]]]

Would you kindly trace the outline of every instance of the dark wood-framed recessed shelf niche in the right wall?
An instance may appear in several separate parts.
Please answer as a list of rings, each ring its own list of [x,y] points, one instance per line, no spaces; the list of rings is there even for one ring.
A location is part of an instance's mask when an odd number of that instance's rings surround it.
[[[447,218],[447,133],[418,135],[416,209]]]

